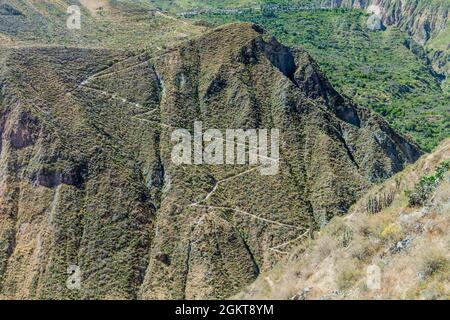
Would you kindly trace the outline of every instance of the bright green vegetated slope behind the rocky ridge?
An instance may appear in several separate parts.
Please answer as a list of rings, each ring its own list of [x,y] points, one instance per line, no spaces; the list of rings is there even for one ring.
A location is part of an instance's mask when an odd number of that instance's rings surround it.
[[[283,44],[305,48],[333,86],[358,104],[383,115],[425,150],[450,136],[450,95],[445,96],[424,50],[396,27],[368,30],[360,10],[203,13],[214,25],[251,21]]]

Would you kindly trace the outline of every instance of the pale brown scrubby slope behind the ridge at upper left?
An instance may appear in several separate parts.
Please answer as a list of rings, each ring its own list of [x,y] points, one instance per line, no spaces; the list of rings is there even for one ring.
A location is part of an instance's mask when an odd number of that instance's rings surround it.
[[[80,29],[67,28],[70,5],[80,8]],[[157,50],[205,30],[154,10],[144,0],[1,0],[0,18],[0,36],[10,38],[12,43],[9,45],[14,46],[34,44]]]

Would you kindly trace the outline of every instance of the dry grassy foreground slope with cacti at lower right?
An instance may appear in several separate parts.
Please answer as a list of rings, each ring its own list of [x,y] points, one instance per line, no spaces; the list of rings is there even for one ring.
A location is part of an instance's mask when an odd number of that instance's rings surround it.
[[[449,299],[450,140],[373,187],[243,299]]]

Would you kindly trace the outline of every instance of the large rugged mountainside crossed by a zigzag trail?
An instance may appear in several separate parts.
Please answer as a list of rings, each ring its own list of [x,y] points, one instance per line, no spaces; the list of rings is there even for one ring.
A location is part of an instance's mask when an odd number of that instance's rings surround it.
[[[421,154],[251,24],[158,54],[3,49],[0,66],[4,298],[230,296]],[[171,134],[195,121],[279,129],[279,174],[175,165]]]

